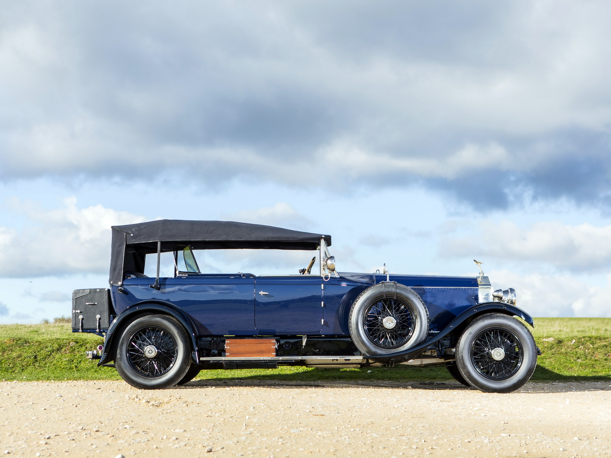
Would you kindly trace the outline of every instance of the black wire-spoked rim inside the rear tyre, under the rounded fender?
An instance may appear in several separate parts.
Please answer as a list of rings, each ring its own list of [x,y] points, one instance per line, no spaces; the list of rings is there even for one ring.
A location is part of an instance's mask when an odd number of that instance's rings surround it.
[[[130,365],[145,377],[166,374],[174,366],[177,354],[178,346],[174,338],[158,327],[137,330],[127,347]]]

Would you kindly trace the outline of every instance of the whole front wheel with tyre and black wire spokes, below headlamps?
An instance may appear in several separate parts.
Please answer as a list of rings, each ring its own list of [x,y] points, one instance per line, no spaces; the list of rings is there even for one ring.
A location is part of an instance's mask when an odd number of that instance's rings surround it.
[[[472,387],[511,393],[535,372],[535,339],[517,319],[489,313],[469,324],[456,343],[456,366]]]

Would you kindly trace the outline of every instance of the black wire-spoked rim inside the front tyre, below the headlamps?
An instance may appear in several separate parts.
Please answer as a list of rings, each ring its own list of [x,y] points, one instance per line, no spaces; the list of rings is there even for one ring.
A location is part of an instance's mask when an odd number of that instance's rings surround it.
[[[503,380],[518,372],[524,352],[511,332],[487,329],[475,338],[470,353],[478,373],[487,379]]]

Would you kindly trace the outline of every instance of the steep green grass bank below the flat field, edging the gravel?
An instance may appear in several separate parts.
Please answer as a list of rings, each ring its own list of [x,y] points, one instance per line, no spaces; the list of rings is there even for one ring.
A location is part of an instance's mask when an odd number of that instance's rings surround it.
[[[119,380],[114,368],[98,368],[85,351],[102,339],[8,338],[0,341],[0,379],[4,380]],[[611,379],[611,337],[576,336],[544,341],[532,380]],[[368,371],[371,371],[369,373]],[[256,380],[451,380],[444,367],[319,369],[284,366],[278,369],[208,370],[197,379]]]

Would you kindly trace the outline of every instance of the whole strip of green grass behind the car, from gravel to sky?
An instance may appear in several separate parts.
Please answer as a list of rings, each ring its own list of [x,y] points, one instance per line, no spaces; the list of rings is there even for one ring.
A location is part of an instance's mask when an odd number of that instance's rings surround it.
[[[532,380],[611,379],[611,319],[536,318],[533,332],[543,351]],[[546,340],[553,337],[554,340]],[[70,325],[0,325],[0,380],[119,380],[113,368],[98,368],[84,352],[98,336],[72,333]],[[368,373],[371,371],[371,373]],[[197,379],[240,380],[452,380],[443,367],[209,370]]]

